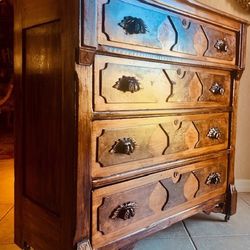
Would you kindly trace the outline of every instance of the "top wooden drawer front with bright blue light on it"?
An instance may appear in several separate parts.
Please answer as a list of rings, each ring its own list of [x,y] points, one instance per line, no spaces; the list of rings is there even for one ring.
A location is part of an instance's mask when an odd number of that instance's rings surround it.
[[[141,1],[98,1],[98,42],[130,50],[236,63],[236,32]]]

